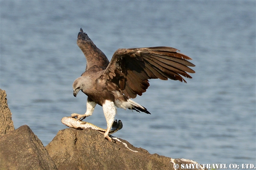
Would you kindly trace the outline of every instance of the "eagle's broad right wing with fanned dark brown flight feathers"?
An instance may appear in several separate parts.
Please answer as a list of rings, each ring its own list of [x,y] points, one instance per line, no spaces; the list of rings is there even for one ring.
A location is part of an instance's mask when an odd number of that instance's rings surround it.
[[[149,86],[148,79],[185,81],[195,73],[191,58],[171,47],[118,49],[104,71],[108,90],[118,90],[128,98],[142,95]],[[182,77],[183,76],[183,77]]]

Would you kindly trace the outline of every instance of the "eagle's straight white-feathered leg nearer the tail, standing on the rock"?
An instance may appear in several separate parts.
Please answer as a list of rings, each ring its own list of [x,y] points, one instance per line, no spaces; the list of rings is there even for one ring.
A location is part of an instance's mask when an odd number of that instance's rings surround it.
[[[113,125],[114,118],[116,116],[116,106],[114,102],[111,102],[110,100],[106,100],[105,103],[102,105],[102,108],[107,121],[107,129],[104,133],[104,137],[105,139],[108,139],[109,141],[112,142],[113,140],[111,137],[108,136],[108,133]]]

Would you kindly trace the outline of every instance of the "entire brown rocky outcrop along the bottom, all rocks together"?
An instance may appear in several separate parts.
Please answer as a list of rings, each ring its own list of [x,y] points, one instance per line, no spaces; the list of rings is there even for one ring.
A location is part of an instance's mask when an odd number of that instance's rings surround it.
[[[197,164],[150,154],[122,139],[109,142],[91,128],[60,130],[44,147],[27,125],[14,130],[6,94],[0,92],[0,170],[180,170],[181,164]]]

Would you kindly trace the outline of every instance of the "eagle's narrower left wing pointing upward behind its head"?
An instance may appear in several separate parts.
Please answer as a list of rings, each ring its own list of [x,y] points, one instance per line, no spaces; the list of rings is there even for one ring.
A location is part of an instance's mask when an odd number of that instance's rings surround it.
[[[93,41],[88,35],[80,28],[80,32],[77,36],[77,45],[83,51],[84,56],[87,60],[85,71],[102,71],[105,70],[109,64],[106,55],[96,47]],[[81,75],[83,76],[85,72]]]

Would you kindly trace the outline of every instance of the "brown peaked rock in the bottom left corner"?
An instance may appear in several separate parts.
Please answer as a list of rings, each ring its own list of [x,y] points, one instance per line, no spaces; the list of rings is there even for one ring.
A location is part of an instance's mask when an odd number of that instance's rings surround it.
[[[23,125],[0,137],[1,170],[57,170],[44,145]]]

